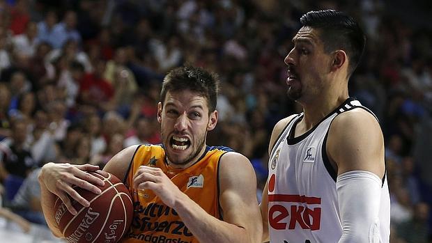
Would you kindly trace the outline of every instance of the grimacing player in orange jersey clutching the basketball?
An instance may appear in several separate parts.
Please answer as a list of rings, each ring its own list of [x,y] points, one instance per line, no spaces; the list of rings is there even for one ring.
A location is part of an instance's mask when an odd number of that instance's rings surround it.
[[[132,226],[122,242],[260,242],[251,163],[229,148],[206,146],[207,132],[217,123],[218,86],[219,79],[201,68],[171,70],[157,104],[162,145],[125,148],[105,166],[124,178],[134,201]],[[67,195],[88,206],[72,185],[100,194],[94,185],[102,182],[85,172],[96,170],[88,164],[43,166],[43,211],[55,235],[62,236],[49,210],[55,195],[76,214]]]

